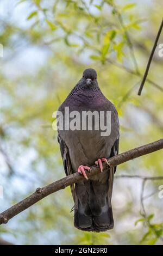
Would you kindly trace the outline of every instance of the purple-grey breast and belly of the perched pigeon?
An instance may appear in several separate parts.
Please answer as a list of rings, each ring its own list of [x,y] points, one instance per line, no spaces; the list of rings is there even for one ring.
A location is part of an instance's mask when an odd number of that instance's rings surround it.
[[[93,90],[80,90],[79,92],[70,93],[67,99],[62,103],[59,111],[65,118],[65,107],[69,107],[69,112],[78,111],[80,113],[80,127],[83,127],[83,112],[110,111],[111,113],[111,132],[109,136],[101,136],[101,128],[95,130],[59,130],[61,138],[67,145],[70,154],[73,172],[77,172],[78,167],[82,164],[92,166],[98,158],[108,158],[110,151],[119,135],[118,114],[115,106],[102,94],[99,88]],[[105,115],[106,118],[106,115]],[[69,121],[72,119],[70,118]],[[84,120],[85,121],[85,120]],[[100,120],[99,120],[100,121]],[[106,121],[106,120],[105,120]],[[100,125],[99,125],[100,126]]]

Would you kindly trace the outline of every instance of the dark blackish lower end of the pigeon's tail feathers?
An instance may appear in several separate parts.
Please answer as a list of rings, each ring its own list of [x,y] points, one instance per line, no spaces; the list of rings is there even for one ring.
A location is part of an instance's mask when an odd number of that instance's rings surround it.
[[[90,209],[86,209],[85,214],[85,208],[83,208],[83,206],[80,205],[78,200],[78,208],[74,209],[74,226],[76,228],[85,231],[101,232],[106,231],[108,229],[112,229],[114,227],[110,199],[108,200],[108,203],[105,206],[103,206],[100,215],[93,216],[91,214],[91,211],[88,210]]]

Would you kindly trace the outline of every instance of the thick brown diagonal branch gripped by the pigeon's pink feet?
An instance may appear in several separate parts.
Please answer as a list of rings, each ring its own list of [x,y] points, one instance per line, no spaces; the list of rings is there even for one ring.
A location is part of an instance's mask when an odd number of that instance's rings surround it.
[[[128,150],[117,156],[111,157],[108,160],[108,162],[111,167],[118,166],[121,163],[135,159],[136,157],[150,154],[162,148],[163,148],[163,139],[159,139],[159,141],[155,141],[155,142],[143,145],[141,147]],[[104,167],[104,171],[108,169],[108,166],[105,163],[103,164],[103,167]],[[99,167],[92,166],[90,172],[87,172],[87,177],[91,178],[96,174],[100,175],[100,173],[101,172],[99,170]],[[70,186],[71,184],[74,184],[76,182],[82,181],[84,179],[85,178],[79,173],[74,173],[58,181],[55,181],[45,187],[37,188],[33,194],[26,197],[21,202],[18,202],[17,204],[11,206],[9,209],[3,211],[0,214],[0,224],[7,223],[11,218],[16,216],[17,214],[20,214],[20,212],[26,210],[33,204],[39,202],[41,199],[47,197],[49,194],[52,194],[61,189],[64,189],[65,187]]]

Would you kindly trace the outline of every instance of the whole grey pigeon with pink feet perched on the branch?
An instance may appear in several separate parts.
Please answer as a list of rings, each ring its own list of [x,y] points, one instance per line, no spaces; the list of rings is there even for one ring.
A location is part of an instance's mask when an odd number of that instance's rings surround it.
[[[102,136],[103,130],[100,125],[99,129],[95,129],[95,126],[98,125],[95,124],[95,118],[92,118],[92,130],[87,124],[86,129],[83,129],[83,125],[85,127],[83,118],[78,119],[78,123],[82,127],[80,130],[67,129],[66,122],[68,121],[70,124],[73,118],[70,115],[68,117],[65,107],[68,107],[72,114],[78,112],[80,117],[87,111],[91,111],[91,113],[96,111],[99,113],[99,117],[101,117],[100,113],[104,112],[105,123],[106,112],[110,112],[110,134]],[[114,219],[111,194],[116,167],[111,168],[108,165],[108,171],[103,172],[102,162],[108,163],[107,159],[118,154],[119,121],[115,106],[106,99],[98,87],[97,73],[94,69],[86,69],[83,72],[83,77],[72,89],[58,111],[64,117],[63,129],[58,127],[58,142],[65,173],[70,175],[78,172],[85,176],[84,181],[76,183],[75,186],[71,185],[74,200],[74,226],[85,231],[96,232],[112,229]],[[99,123],[100,121],[99,119]],[[87,179],[85,170],[89,171],[95,163],[99,165],[101,174]]]

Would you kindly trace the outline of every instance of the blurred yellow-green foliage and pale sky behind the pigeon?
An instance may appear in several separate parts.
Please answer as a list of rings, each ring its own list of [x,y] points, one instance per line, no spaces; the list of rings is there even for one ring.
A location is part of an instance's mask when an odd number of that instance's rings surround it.
[[[118,109],[120,152],[162,137],[158,47],[137,96],[161,19],[161,0],[0,1],[1,211],[65,176],[52,113],[85,68],[97,70],[99,86]],[[116,175],[162,175],[162,159],[161,151],[140,157],[118,166]],[[106,233],[73,227],[73,200],[66,188],[1,225],[0,236],[17,245],[163,244],[163,199],[158,197],[163,179],[146,180],[145,187],[143,181],[115,180],[115,227]]]

